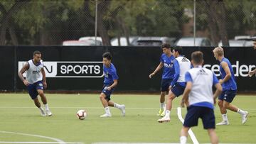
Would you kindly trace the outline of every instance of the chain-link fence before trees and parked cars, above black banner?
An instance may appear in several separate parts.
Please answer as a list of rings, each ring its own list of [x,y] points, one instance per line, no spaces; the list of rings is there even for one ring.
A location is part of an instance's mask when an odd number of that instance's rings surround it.
[[[0,0],[0,45],[233,45],[255,16],[255,0]]]

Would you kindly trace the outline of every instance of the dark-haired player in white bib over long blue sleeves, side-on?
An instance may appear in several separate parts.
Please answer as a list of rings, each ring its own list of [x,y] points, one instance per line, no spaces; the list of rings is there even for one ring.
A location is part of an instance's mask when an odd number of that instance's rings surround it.
[[[170,121],[170,111],[172,107],[172,101],[183,94],[184,89],[186,87],[185,82],[185,74],[188,72],[188,70],[191,69],[191,62],[182,55],[182,48],[181,47],[175,47],[173,50],[174,57],[176,59],[174,60],[174,80],[171,82],[171,85],[169,87],[169,94],[166,104],[166,113],[165,116],[157,121],[159,123],[162,122],[169,122]]]

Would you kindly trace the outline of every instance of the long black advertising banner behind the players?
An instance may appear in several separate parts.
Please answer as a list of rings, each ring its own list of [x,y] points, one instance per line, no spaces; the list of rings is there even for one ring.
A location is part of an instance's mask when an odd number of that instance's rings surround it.
[[[42,52],[48,90],[100,91],[104,79],[102,54],[110,51],[112,63],[117,68],[119,92],[158,92],[161,72],[149,79],[149,74],[159,65],[159,47],[103,47],[103,46],[18,46],[0,47],[0,60],[4,70],[1,73],[0,89],[20,91],[26,89],[18,79],[18,70],[31,60],[33,51]],[[191,52],[201,50],[204,65],[217,76],[219,62],[213,56],[213,48],[184,47],[183,55],[191,58]],[[247,77],[256,67],[256,50],[253,48],[224,48],[225,57],[233,65],[240,92],[256,92],[256,77]],[[26,73],[24,74],[26,77]]]

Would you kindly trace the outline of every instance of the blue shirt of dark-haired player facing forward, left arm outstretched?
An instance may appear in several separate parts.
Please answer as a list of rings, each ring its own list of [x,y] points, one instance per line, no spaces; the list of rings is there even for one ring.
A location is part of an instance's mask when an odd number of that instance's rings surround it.
[[[162,79],[174,79],[174,60],[174,55],[171,55],[171,57],[164,53],[161,55],[160,62],[164,63]]]

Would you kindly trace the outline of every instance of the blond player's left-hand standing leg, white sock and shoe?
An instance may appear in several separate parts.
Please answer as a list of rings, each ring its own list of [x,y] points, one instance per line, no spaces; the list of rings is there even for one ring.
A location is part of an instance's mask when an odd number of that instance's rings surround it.
[[[223,100],[225,96],[225,91],[223,91],[220,96],[218,96],[218,106],[220,107],[220,113],[223,118],[223,121],[220,123],[217,123],[216,125],[228,125],[228,115],[227,115],[227,110],[223,106]]]

